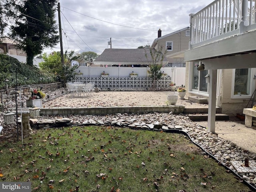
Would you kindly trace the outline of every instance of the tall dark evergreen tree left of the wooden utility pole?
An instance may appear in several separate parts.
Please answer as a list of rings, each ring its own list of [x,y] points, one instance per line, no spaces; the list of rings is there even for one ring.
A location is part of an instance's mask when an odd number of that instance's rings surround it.
[[[13,2],[15,25],[10,38],[27,55],[27,64],[33,65],[34,56],[59,41],[58,26],[54,20],[57,0],[19,0]],[[16,15],[15,15],[16,14]],[[18,15],[17,15],[18,14]]]

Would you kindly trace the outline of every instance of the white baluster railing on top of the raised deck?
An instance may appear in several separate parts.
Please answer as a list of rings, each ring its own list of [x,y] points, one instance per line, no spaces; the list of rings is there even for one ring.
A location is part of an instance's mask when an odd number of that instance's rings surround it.
[[[215,0],[190,14],[190,48],[240,34],[241,22],[248,26],[247,31],[255,29],[255,1]]]

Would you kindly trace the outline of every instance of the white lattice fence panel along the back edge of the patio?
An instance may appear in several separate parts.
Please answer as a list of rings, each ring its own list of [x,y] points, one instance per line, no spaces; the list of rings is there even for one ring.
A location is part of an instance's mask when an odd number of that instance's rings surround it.
[[[156,82],[156,88],[168,88],[171,82],[170,77],[161,78]],[[72,82],[83,83],[94,82],[95,87],[102,89],[146,89],[152,88],[152,78],[150,77],[74,77]]]

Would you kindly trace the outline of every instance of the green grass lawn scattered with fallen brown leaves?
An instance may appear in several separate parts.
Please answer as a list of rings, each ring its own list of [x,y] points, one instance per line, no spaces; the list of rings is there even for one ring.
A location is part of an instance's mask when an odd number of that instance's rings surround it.
[[[0,181],[41,192],[248,192],[184,135],[116,127],[37,130],[0,143]]]

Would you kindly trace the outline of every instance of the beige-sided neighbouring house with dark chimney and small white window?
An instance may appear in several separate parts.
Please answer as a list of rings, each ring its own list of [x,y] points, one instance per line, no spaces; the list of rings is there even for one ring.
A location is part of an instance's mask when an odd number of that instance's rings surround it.
[[[161,36],[162,31],[158,30],[158,38],[154,40],[150,48],[162,49],[166,57],[170,54],[188,49],[190,39],[190,28],[186,27],[170,34]],[[185,67],[184,58],[169,58],[165,67]]]

